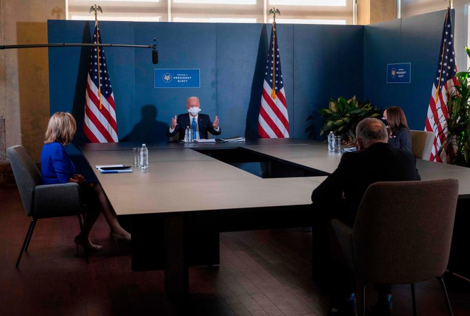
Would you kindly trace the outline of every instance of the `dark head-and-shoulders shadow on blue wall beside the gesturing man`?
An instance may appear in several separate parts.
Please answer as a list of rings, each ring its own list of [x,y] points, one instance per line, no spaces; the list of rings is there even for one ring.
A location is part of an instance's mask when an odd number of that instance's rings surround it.
[[[167,123],[157,121],[157,117],[158,110],[155,105],[144,105],[141,110],[141,121],[119,141],[140,143],[167,141],[166,132],[170,126]]]

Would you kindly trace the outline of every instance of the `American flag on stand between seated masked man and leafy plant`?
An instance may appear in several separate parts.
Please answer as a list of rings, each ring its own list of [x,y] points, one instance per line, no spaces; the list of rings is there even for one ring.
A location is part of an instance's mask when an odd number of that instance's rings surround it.
[[[259,107],[258,133],[261,138],[289,137],[289,117],[285,103],[276,22],[273,22],[269,44],[261,106]]]

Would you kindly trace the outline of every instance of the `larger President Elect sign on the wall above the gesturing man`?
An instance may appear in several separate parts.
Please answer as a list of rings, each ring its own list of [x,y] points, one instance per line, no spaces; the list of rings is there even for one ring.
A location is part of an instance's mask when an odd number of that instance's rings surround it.
[[[155,88],[199,88],[199,69],[153,69]]]

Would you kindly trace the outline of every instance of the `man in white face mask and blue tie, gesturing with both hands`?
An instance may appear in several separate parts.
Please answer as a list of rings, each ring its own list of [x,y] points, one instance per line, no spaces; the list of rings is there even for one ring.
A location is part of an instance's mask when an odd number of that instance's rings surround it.
[[[186,100],[186,109],[189,113],[180,114],[178,118],[175,115],[175,117],[171,119],[170,129],[166,132],[168,137],[172,137],[179,132],[179,140],[185,139],[187,126],[191,129],[195,140],[206,139],[208,131],[212,135],[220,135],[219,119],[215,116],[214,123],[212,123],[209,115],[199,113],[201,106],[199,105],[198,97],[189,97],[188,100]]]

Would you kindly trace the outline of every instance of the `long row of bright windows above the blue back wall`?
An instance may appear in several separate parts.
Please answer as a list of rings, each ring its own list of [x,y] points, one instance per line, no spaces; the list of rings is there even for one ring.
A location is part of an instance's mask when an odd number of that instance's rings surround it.
[[[94,20],[95,0],[66,0],[67,19]],[[271,23],[275,6],[279,23],[352,24],[353,0],[101,0],[101,20]]]

